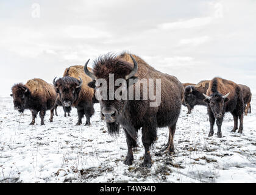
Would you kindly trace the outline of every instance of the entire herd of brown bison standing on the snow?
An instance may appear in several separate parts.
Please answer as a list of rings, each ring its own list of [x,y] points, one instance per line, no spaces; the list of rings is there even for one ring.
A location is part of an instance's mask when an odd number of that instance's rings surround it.
[[[101,106],[101,119],[105,120],[108,132],[114,135],[123,128],[127,141],[126,165],[132,165],[133,148],[137,147],[138,130],[142,132],[142,143],[144,146],[144,161],[142,166],[150,168],[152,165],[150,147],[157,141],[157,128],[168,127],[169,138],[166,150],[174,153],[174,133],[179,119],[182,104],[188,108],[190,114],[195,105],[204,105],[210,121],[209,137],[213,136],[213,126],[218,126],[218,137],[222,137],[221,125],[226,112],[233,115],[234,126],[232,132],[238,129],[243,132],[243,117],[251,113],[251,90],[245,85],[238,85],[230,80],[215,77],[212,80],[203,80],[197,84],[181,83],[175,76],[157,71],[137,55],[123,52],[120,55],[107,54],[99,57],[93,62],[93,69],[88,68],[89,60],[85,66],[70,66],[66,68],[63,77],[53,79],[49,84],[42,79],[32,79],[12,87],[13,104],[15,110],[23,113],[28,109],[32,113],[32,122],[39,112],[41,125],[44,125],[46,110],[51,111],[50,122],[53,121],[54,110],[62,106],[65,116],[71,112],[71,108],[77,109],[77,126],[82,124],[82,118],[86,117],[86,126],[90,126],[90,118],[94,114],[93,105],[99,103]],[[149,99],[144,99],[144,91],[140,88],[138,96],[140,99],[110,99],[113,91],[107,91],[107,98],[97,97],[99,92],[98,81],[107,80],[110,88],[110,75],[114,75],[115,82],[118,79],[126,80],[125,93],[132,88],[133,95],[138,85],[135,83],[142,79],[154,79],[154,93],[160,90],[161,102],[158,106],[151,106]],[[129,80],[134,82],[130,83]],[[161,79],[160,87],[155,80]],[[151,90],[148,86],[146,91]],[[123,91],[122,91],[123,92]],[[136,92],[137,93],[137,92]],[[130,94],[129,94],[130,95]],[[142,98],[143,97],[143,98]],[[129,96],[130,98],[130,96]],[[238,127],[238,118],[240,125]]]

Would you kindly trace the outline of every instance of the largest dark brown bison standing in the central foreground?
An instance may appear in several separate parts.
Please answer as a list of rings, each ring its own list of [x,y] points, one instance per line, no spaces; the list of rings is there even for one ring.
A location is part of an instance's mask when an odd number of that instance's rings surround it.
[[[126,52],[118,56],[108,54],[99,57],[98,60],[94,61],[93,73],[88,71],[87,63],[85,64],[85,73],[93,79],[88,85],[96,88],[96,94],[101,87],[98,80],[104,79],[107,82],[106,99],[96,97],[101,105],[101,114],[107,123],[108,132],[110,134],[118,133],[120,126],[124,129],[128,147],[124,163],[132,165],[132,149],[137,147],[137,133],[140,128],[142,128],[142,143],[145,149],[142,166],[149,168],[152,165],[149,148],[157,140],[157,127],[169,127],[169,139],[166,147],[169,152],[174,152],[173,138],[183,98],[182,83],[174,76],[155,70],[140,57]],[[118,79],[126,80],[124,85],[121,85],[122,88],[126,89],[124,94],[132,90],[133,96],[136,96],[134,91],[140,87],[140,84],[134,84],[135,82],[141,83],[142,79],[149,82],[149,79],[154,79],[154,93],[160,92],[160,105],[151,107],[151,100],[142,99],[144,90],[141,88],[138,90],[140,100],[133,98],[119,100],[116,96],[110,99],[110,81],[108,81],[110,74],[114,75],[115,81]],[[161,91],[157,91],[160,90],[159,86],[157,89],[155,88],[157,86],[156,79],[161,79]],[[150,90],[149,87],[147,89]],[[115,87],[115,93],[117,91],[118,89]]]

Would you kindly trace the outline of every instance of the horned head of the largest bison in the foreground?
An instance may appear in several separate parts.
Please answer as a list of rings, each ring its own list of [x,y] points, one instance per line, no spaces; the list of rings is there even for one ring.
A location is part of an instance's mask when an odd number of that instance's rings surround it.
[[[127,88],[133,87],[133,84],[138,80],[137,77],[134,76],[137,73],[138,64],[132,55],[130,55],[130,57],[133,61],[133,68],[129,62],[119,59],[119,57],[116,57],[115,55],[105,55],[105,57],[100,57],[94,62],[94,74],[87,69],[88,61],[85,63],[85,74],[93,79],[92,82],[88,83],[88,86],[96,90],[96,98],[101,104],[102,118],[110,124],[115,124],[116,121],[118,121],[119,115],[127,104],[127,99],[117,99],[116,95],[114,96],[113,94],[116,94],[120,88],[124,89],[119,91],[120,94],[128,93],[129,90],[127,90]],[[114,86],[113,83],[110,82],[111,79],[113,79],[113,82],[115,83]],[[119,83],[119,86],[116,86],[118,79],[123,80],[124,83]],[[107,90],[105,91],[106,96],[103,99],[99,99],[98,97],[99,94],[102,94],[101,90],[102,85],[104,84],[99,82],[100,80],[106,81],[105,87]],[[133,82],[130,82],[131,80],[133,80]],[[112,95],[113,98],[110,98]]]

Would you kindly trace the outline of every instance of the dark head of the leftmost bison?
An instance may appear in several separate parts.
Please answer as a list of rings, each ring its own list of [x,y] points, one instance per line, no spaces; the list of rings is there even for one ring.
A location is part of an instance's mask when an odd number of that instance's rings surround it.
[[[27,102],[29,100],[30,90],[23,84],[17,84],[12,87],[12,96],[13,104],[15,110],[18,112],[23,113],[27,107]]]

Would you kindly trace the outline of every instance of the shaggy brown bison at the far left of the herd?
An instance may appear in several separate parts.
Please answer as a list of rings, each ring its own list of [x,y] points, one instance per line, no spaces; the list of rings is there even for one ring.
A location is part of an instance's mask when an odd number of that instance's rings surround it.
[[[39,112],[41,125],[44,125],[44,115],[46,110],[51,110],[50,122],[53,119],[54,103],[57,98],[57,93],[53,85],[45,82],[42,79],[31,79],[25,85],[22,83],[12,87],[13,104],[15,110],[23,113],[29,109],[32,113],[32,122],[35,124],[35,118]]]

